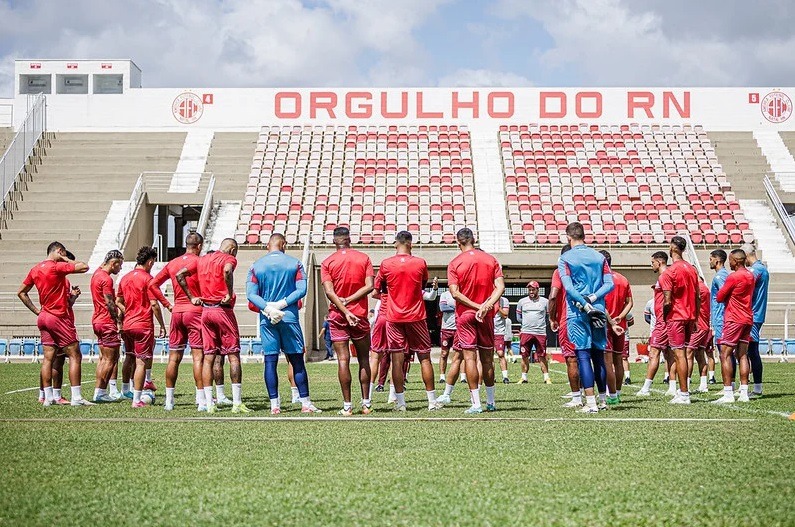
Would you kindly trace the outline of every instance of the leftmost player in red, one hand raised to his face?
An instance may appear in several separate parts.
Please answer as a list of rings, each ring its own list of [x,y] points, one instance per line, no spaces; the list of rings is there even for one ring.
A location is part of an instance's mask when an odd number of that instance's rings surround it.
[[[52,242],[47,246],[47,258],[36,264],[19,288],[17,296],[34,315],[41,334],[44,358],[41,365],[41,381],[44,388],[44,406],[54,402],[52,391],[52,365],[55,356],[62,351],[69,357],[69,383],[72,390],[72,406],[93,405],[85,399],[80,389],[82,360],[74,319],[70,318],[70,286],[66,277],[88,271],[88,265],[67,257],[62,243]],[[41,307],[36,307],[28,293],[36,288]]]

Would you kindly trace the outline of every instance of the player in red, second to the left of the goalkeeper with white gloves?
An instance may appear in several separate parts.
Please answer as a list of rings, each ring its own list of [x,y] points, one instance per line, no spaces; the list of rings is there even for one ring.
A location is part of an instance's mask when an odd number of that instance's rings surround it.
[[[185,237],[185,254],[168,262],[150,282],[149,288],[160,289],[166,280],[171,281],[174,290],[174,307],[171,312],[171,324],[168,332],[168,366],[166,366],[166,404],[165,410],[174,409],[174,388],[177,385],[179,365],[185,353],[185,346],[190,345],[193,359],[193,382],[196,385],[196,403],[200,412],[207,411],[207,400],[204,395],[202,366],[204,351],[202,348],[202,307],[194,305],[182,291],[177,274],[185,271],[185,282],[194,297],[201,296],[199,275],[196,272],[199,255],[204,238],[198,232],[191,232]],[[223,375],[223,370],[222,370]],[[221,406],[222,401],[218,401]]]

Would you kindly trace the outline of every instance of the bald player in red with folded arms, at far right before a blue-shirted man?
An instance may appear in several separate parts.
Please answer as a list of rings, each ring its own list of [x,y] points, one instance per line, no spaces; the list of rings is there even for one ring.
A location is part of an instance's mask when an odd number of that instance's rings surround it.
[[[723,333],[720,341],[720,364],[723,376],[723,397],[713,401],[717,404],[734,402],[734,361],[736,357],[740,370],[740,397],[738,402],[747,403],[748,398],[748,343],[754,324],[753,294],[755,279],[745,267],[745,252],[735,249],[729,254],[729,267],[732,272],[717,294],[717,301],[726,306],[723,314]]]

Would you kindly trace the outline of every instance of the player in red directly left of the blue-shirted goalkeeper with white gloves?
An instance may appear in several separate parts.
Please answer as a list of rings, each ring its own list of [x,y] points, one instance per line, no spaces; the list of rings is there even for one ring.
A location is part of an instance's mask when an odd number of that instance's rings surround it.
[[[243,371],[240,365],[240,330],[235,317],[234,272],[237,267],[237,242],[232,238],[221,241],[220,248],[199,258],[196,270],[177,272],[177,283],[194,306],[202,306],[202,384],[207,401],[207,413],[215,413],[213,404],[213,365],[216,360],[229,360],[232,379],[232,413],[250,413],[243,404]],[[199,293],[194,296],[188,278],[199,278]]]

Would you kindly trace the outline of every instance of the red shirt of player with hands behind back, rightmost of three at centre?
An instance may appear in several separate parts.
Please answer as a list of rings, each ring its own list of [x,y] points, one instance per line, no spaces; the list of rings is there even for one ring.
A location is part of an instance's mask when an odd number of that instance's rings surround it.
[[[502,276],[502,267],[492,255],[480,249],[464,251],[447,266],[447,285],[457,285],[461,294],[476,304],[482,304],[494,292],[494,280]],[[474,311],[456,302],[455,314]]]

